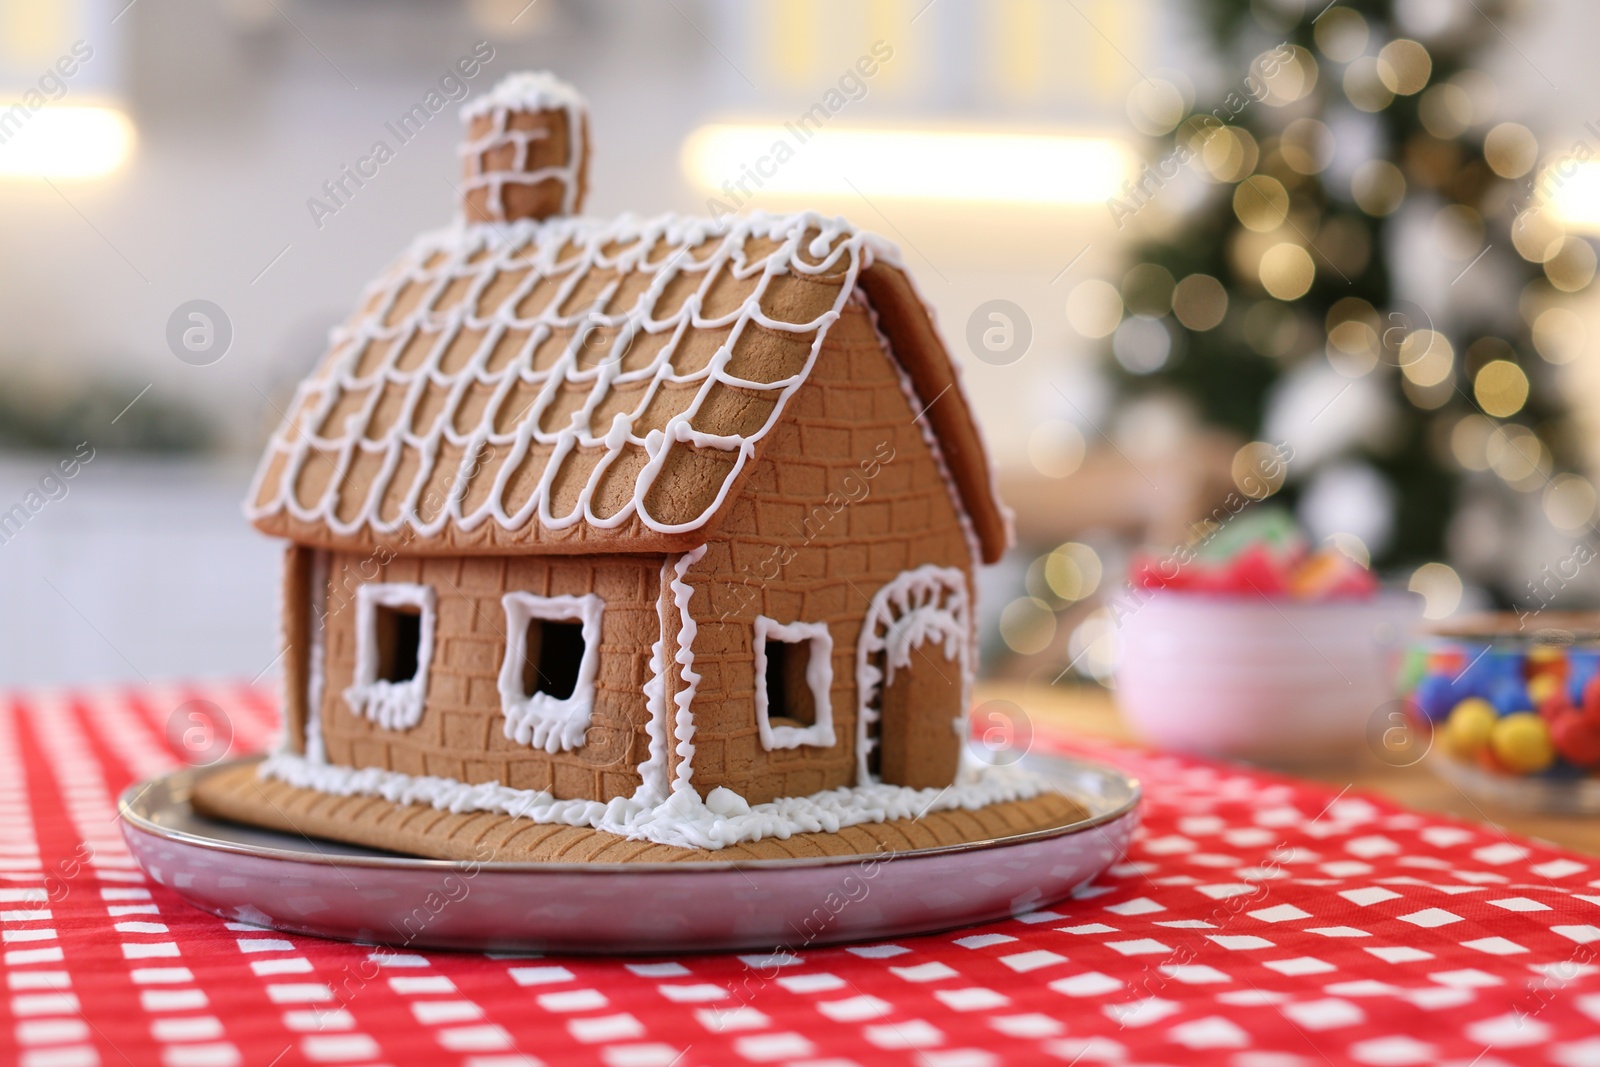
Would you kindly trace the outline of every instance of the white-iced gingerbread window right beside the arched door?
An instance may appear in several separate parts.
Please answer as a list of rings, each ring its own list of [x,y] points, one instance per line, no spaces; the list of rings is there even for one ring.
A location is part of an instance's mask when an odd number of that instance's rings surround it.
[[[755,619],[755,723],[762,747],[834,745],[834,637],[826,622]]]

